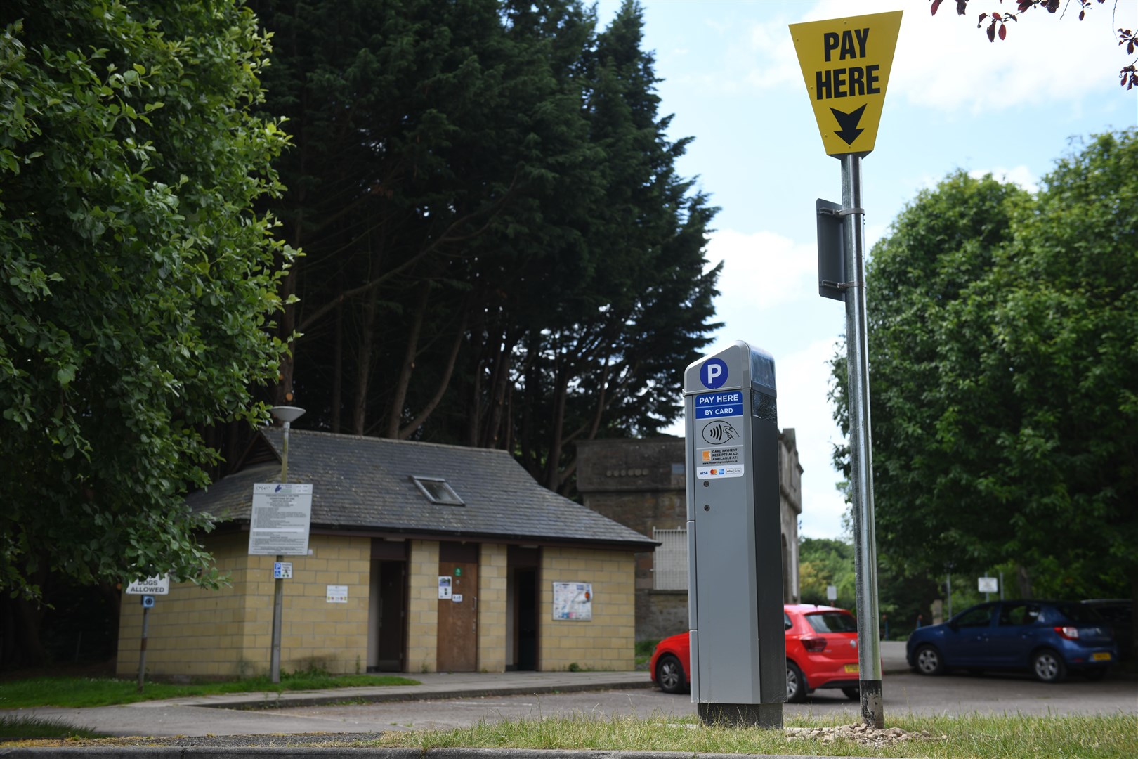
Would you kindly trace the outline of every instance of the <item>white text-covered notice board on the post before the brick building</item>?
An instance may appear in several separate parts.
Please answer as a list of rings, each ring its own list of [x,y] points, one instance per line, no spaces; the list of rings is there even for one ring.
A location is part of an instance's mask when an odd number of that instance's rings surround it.
[[[312,485],[258,482],[253,486],[249,554],[255,556],[308,555]]]

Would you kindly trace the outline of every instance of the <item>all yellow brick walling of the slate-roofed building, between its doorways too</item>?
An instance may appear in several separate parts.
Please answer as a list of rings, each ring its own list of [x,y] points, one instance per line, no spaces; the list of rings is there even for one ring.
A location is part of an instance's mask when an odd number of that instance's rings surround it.
[[[272,645],[273,556],[248,555],[245,533],[207,538],[218,570],[232,585],[205,591],[173,585],[150,611],[147,675],[236,677],[267,674]],[[287,556],[281,616],[281,671],[311,666],[333,674],[364,671],[368,658],[371,538],[313,535],[311,556]],[[437,669],[438,543],[412,541],[409,556],[409,673]],[[634,556],[626,551],[543,548],[538,610],[539,667],[628,671],[634,667]],[[508,661],[508,550],[483,544],[479,555],[478,669],[503,671]],[[553,619],[554,581],[593,584],[592,621]],[[347,603],[328,603],[329,585],[346,585]],[[119,677],[137,677],[142,609],[123,597]]]

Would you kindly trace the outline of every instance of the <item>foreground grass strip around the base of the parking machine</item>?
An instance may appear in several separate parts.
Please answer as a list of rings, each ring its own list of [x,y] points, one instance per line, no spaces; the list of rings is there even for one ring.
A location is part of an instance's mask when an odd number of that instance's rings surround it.
[[[834,727],[839,720],[787,718],[786,727]],[[453,731],[390,732],[370,746],[417,749],[596,749],[679,753],[748,753],[827,757],[922,757],[929,759],[1133,759],[1138,717],[986,716],[889,718],[912,740],[867,745],[850,740],[791,739],[783,731],[704,727],[695,717],[521,719],[481,723]],[[929,737],[923,735],[927,734]]]

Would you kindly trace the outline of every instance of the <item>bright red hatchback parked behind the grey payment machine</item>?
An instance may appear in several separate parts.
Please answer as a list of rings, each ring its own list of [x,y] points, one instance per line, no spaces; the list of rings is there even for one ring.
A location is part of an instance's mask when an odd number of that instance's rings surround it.
[[[857,700],[857,620],[844,609],[786,604],[786,701],[800,703],[822,687],[841,688]],[[665,693],[691,685],[691,643],[687,633],[666,637],[652,653],[652,682]]]

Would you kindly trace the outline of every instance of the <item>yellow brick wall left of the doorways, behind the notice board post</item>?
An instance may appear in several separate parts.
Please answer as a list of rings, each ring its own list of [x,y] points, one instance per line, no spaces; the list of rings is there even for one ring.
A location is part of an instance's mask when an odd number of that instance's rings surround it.
[[[245,533],[206,539],[231,586],[206,591],[174,584],[150,610],[148,676],[233,677],[267,674],[272,647],[274,556],[248,555]],[[368,655],[371,538],[313,535],[311,556],[286,556],[281,671],[316,666],[363,671]],[[347,585],[347,603],[328,603],[328,585]],[[137,677],[142,608],[124,595],[116,674]]]

